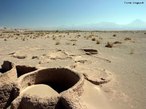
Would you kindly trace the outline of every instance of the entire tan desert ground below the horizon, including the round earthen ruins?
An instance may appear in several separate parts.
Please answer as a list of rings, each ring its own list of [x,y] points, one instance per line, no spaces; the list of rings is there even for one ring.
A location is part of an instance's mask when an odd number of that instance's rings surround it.
[[[146,31],[1,29],[0,65],[0,109],[146,108]]]

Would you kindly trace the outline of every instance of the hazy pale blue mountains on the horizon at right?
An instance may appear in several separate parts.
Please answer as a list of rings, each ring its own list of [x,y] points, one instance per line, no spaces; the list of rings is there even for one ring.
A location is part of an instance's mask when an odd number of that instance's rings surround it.
[[[70,28],[70,27],[69,27]],[[146,22],[134,20],[128,24],[117,24],[114,22],[99,22],[96,24],[87,24],[82,26],[73,26],[71,29],[85,30],[146,30]]]

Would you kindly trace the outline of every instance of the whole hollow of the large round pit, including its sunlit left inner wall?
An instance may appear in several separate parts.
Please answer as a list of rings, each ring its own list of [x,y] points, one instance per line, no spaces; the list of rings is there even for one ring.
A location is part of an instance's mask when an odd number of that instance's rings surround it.
[[[61,93],[74,86],[79,80],[80,76],[69,69],[49,68],[25,76],[21,85],[24,89],[30,84],[46,84]]]

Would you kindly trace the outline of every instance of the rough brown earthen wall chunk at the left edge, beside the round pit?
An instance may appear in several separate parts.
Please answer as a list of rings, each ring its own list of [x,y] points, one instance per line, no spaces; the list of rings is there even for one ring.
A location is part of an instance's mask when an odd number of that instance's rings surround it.
[[[17,96],[14,91],[17,90],[15,81],[17,79],[16,67],[9,61],[4,61],[2,65],[2,74],[0,75],[0,109],[6,108]]]

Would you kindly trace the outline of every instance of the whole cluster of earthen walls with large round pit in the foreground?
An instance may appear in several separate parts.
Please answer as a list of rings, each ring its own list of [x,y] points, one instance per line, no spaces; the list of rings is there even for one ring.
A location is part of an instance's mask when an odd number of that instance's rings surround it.
[[[4,61],[0,109],[85,109],[84,77],[67,68],[36,68]]]

